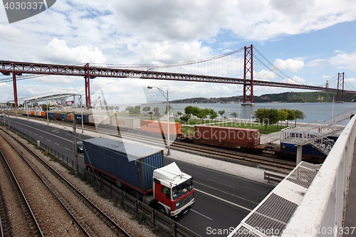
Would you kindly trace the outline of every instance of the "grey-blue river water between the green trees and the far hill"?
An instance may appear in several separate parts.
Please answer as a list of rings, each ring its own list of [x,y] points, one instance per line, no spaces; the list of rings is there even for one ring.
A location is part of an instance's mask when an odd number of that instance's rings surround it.
[[[315,102],[315,103],[256,103],[256,105],[242,106],[239,103],[201,103],[201,104],[192,104],[192,103],[174,103],[170,104],[173,107],[174,112],[184,113],[184,108],[192,105],[199,108],[209,108],[213,109],[216,112],[219,110],[225,110],[224,117],[231,116],[232,112],[236,112],[241,119],[253,119],[254,112],[258,108],[265,107],[266,109],[276,108],[277,110],[286,108],[289,110],[300,110],[304,112],[306,116],[304,120],[298,120],[298,122],[314,122],[315,120],[328,120],[334,115],[338,115],[347,110],[356,109],[355,102],[345,102],[345,103],[332,103],[332,102]],[[141,107],[150,106],[151,111],[153,107],[159,107],[159,112],[163,113],[165,110],[165,104],[147,104],[141,105]]]

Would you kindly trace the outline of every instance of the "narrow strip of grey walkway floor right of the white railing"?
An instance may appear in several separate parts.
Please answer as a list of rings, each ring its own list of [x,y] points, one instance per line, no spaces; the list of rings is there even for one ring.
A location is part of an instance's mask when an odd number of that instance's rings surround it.
[[[347,206],[346,206],[346,216],[345,216],[345,228],[348,227],[350,231],[353,230],[353,235],[356,235],[355,220],[356,220],[356,143],[354,147],[354,155],[352,159],[352,168],[350,174],[350,183],[349,183],[349,194],[347,196]],[[349,236],[353,236],[350,235]],[[346,234],[344,236],[347,236]]]

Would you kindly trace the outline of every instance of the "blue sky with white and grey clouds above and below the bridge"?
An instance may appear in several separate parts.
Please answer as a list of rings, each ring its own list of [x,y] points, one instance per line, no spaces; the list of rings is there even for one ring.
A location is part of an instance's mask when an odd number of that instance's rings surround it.
[[[323,85],[345,72],[347,90],[356,88],[355,0],[58,0],[41,14],[16,23],[9,23],[0,6],[0,60],[109,66],[177,63],[251,44],[290,76],[285,82]],[[263,79],[265,71],[255,70]],[[5,78],[9,76],[0,75],[0,80]],[[112,102],[163,100],[158,90],[147,90],[149,84],[169,90],[171,100],[242,95],[242,85],[95,78],[92,98],[105,93]],[[19,80],[17,85],[19,97],[85,93],[84,80],[78,77],[44,76]],[[291,90],[254,88],[255,95]],[[12,83],[0,81],[0,93],[1,101],[13,100]]]

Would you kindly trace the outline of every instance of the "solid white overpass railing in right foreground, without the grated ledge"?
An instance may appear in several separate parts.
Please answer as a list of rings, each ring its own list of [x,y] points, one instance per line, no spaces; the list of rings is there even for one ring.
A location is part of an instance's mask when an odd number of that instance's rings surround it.
[[[355,120],[356,116],[352,117],[335,142],[290,218],[283,237],[295,236],[293,230],[305,231],[303,236],[342,236],[356,135]]]

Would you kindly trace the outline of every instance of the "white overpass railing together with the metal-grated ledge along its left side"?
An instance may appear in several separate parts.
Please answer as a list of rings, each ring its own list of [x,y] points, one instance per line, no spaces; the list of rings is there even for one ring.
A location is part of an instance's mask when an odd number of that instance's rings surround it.
[[[351,118],[322,165],[300,162],[229,237],[342,236],[355,120]]]

